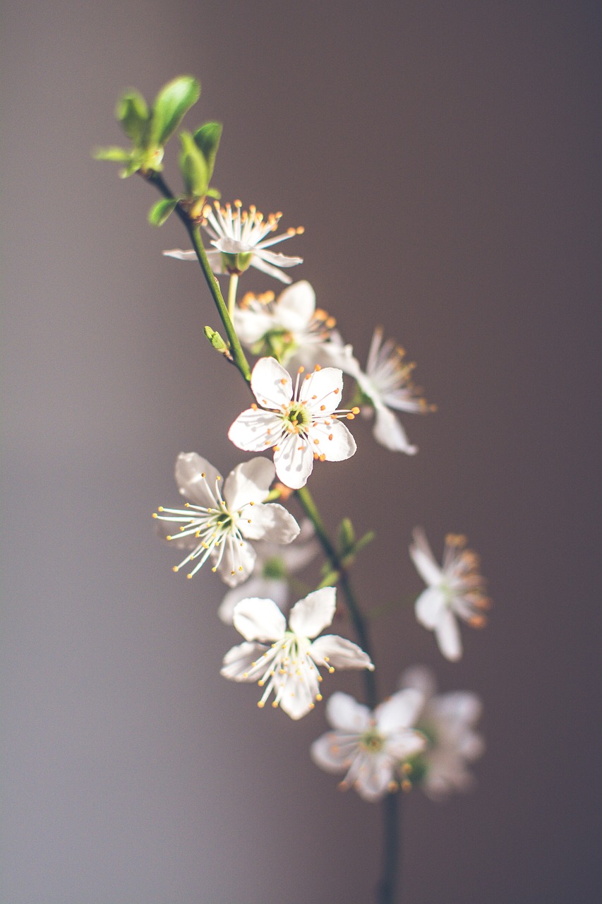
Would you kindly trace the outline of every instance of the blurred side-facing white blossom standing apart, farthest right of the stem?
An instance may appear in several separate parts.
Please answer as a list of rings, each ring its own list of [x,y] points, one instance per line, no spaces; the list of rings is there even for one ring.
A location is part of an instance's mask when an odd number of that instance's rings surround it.
[[[441,653],[452,661],[462,655],[462,640],[456,617],[473,627],[483,627],[484,610],[491,606],[479,574],[479,559],[466,549],[466,537],[448,533],[439,566],[425,533],[417,528],[409,554],[428,584],[416,600],[416,617],[421,625],[434,631]]]

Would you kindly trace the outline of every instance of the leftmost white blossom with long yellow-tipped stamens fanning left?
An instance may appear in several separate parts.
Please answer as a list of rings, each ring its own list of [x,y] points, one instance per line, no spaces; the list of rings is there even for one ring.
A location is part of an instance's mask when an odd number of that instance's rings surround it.
[[[251,458],[230,471],[221,493],[221,474],[196,452],[182,452],[175,462],[175,482],[180,493],[190,499],[183,509],[160,507],[153,517],[179,525],[166,539],[190,550],[174,566],[180,570],[195,563],[192,578],[207,559],[213,571],[235,587],[249,578],[256,553],[249,540],[290,543],[299,525],[282,505],[264,504],[274,479],[274,465],[267,458]]]

